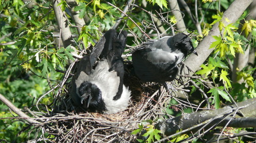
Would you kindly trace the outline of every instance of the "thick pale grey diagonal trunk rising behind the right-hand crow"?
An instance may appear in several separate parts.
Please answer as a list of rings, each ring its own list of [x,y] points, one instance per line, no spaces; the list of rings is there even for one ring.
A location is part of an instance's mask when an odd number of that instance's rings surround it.
[[[228,9],[223,14],[223,23],[228,25],[230,23],[234,23],[238,20],[238,18],[243,14],[246,8],[251,4],[253,0],[235,0]],[[225,18],[228,18],[230,21],[226,21]],[[204,63],[204,61],[208,58],[210,53],[214,50],[214,48],[209,49],[212,42],[216,40],[212,36],[220,35],[219,31],[219,23],[214,24],[212,26],[211,31],[208,36],[204,37],[204,39],[199,43],[196,48],[198,56],[195,54],[190,54],[184,64],[193,72],[196,72],[199,67]],[[193,72],[189,72],[187,68],[182,69],[182,74],[193,75]]]

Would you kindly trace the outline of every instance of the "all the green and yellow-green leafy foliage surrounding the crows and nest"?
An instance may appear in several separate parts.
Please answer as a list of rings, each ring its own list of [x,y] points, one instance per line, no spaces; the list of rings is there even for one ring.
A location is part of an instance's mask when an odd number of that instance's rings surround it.
[[[57,36],[55,34],[59,30],[51,2],[41,0],[36,2],[37,4],[32,8],[28,8],[28,3],[24,3],[22,0],[0,1],[1,43],[6,44],[0,45],[0,93],[18,108],[27,106],[31,110],[35,108],[35,101],[39,97],[51,90],[52,85],[57,85],[63,80],[64,74],[58,71],[66,71],[69,61],[74,60],[71,54],[74,50],[70,46],[65,47],[57,42],[60,36],[59,33]],[[70,5],[67,1],[60,1],[58,6],[65,12],[68,18],[67,25],[70,26],[71,33],[75,35],[72,39],[75,41],[75,48],[78,51],[83,51],[84,49],[88,51],[91,45],[95,45],[95,41],[99,39],[101,32],[109,30],[116,23],[117,19],[121,17],[123,18],[119,29],[124,28],[139,39],[129,37],[127,45],[130,46],[137,46],[144,41],[145,35],[143,32],[152,33],[152,31],[156,30],[156,27],[158,28],[158,26],[154,25],[156,22],[153,21],[153,14],[161,15],[164,18],[167,17],[166,21],[161,18],[159,19],[163,23],[161,26],[167,30],[167,33],[171,33],[169,28],[176,26],[180,19],[177,19],[169,12],[167,1],[147,0],[146,2],[148,2],[147,7],[143,7],[142,1],[135,1],[132,9],[129,9],[126,13],[134,20],[132,21],[127,16],[122,16],[120,11],[126,6],[126,1],[77,1],[77,6],[74,7],[72,12],[77,12],[81,19],[87,19],[86,24],[80,26],[80,34],[78,34],[75,21],[70,15]],[[188,6],[194,6],[194,2],[187,2]],[[219,23],[218,28],[221,31],[220,36],[214,36],[216,41],[212,42],[210,46],[210,48],[215,48],[215,52],[201,66],[202,69],[196,72],[204,80],[213,82],[212,88],[205,91],[208,97],[213,97],[210,98],[211,104],[219,108],[222,102],[230,102],[231,99],[228,94],[234,97],[236,101],[256,97],[256,82],[253,79],[255,68],[248,66],[238,71],[231,71],[230,69],[230,63],[233,63],[237,53],[244,53],[248,44],[256,45],[254,42],[256,37],[256,21],[244,20],[245,23],[241,29],[238,28],[239,22],[225,25],[228,19],[222,18],[223,11],[230,5],[230,1],[202,0],[197,2],[198,6],[200,6],[198,10],[201,13],[198,15],[199,21],[203,19],[201,23],[203,28],[202,35],[197,33],[193,18],[184,13],[183,18],[186,21],[188,31],[199,35],[197,40],[207,36],[211,26],[216,23]],[[223,11],[220,11],[221,9]],[[194,7],[191,10],[194,14]],[[216,15],[212,16],[212,13],[216,13]],[[246,11],[240,19],[245,19],[247,13]],[[140,28],[143,28],[143,31]],[[172,28],[172,30],[175,28]],[[245,36],[242,35],[243,33]],[[247,40],[246,38],[248,38],[249,34],[252,37]],[[195,38],[192,39],[194,45],[200,42],[197,40]],[[130,60],[131,57],[127,59]],[[244,82],[233,83],[230,78],[232,72],[237,72],[238,80],[242,79]],[[196,84],[202,90],[205,90],[202,82],[196,82]],[[191,91],[195,92],[195,90],[196,88],[193,87]],[[39,103],[44,105],[52,103],[56,91],[53,90],[44,96],[42,100],[39,100]],[[169,109],[171,105],[176,105],[176,103],[170,101],[166,105],[166,112],[169,115],[174,114],[173,109]],[[16,116],[12,115],[7,106],[2,102],[0,107],[2,109],[0,113],[2,118]],[[183,108],[176,116],[182,112],[193,111],[191,108],[187,110]],[[146,138],[144,140],[138,139],[138,141],[153,142],[159,140],[161,132],[154,128],[153,121],[145,122],[150,124],[146,125],[146,127],[143,124],[139,124],[139,128],[133,131],[133,134],[141,133]],[[15,119],[1,120],[0,125],[0,138],[5,138],[8,142],[14,140],[16,142],[26,141],[36,134],[35,132],[30,134],[22,132],[19,134],[18,131],[23,130],[27,126],[25,123]],[[32,127],[28,127],[28,130],[30,128]],[[14,138],[13,136],[16,135],[17,137]],[[179,141],[186,137],[186,134],[176,136],[172,141]]]

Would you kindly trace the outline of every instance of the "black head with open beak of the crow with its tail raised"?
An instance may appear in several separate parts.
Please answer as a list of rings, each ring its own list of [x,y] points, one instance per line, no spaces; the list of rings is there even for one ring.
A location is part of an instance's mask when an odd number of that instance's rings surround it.
[[[81,96],[81,104],[91,112],[100,112],[107,110],[101,96],[101,91],[97,85],[85,81],[79,87],[79,95]]]

